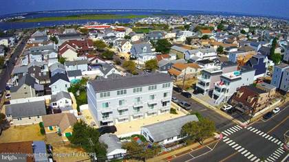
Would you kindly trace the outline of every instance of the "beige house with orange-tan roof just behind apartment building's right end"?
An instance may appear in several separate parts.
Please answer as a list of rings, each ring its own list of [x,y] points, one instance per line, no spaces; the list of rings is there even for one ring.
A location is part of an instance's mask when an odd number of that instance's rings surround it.
[[[168,72],[171,76],[173,76],[173,78],[177,80],[183,78],[196,78],[197,75],[200,73],[200,66],[196,63],[176,63],[171,67],[171,69],[169,69]]]

